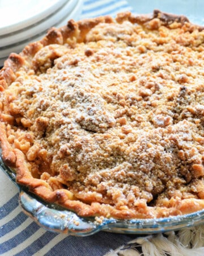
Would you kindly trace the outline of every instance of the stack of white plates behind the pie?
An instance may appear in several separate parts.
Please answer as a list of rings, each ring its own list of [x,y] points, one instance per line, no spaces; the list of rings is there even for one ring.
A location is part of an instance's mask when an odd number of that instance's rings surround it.
[[[41,39],[50,27],[78,19],[83,0],[1,0],[0,67],[11,52]]]

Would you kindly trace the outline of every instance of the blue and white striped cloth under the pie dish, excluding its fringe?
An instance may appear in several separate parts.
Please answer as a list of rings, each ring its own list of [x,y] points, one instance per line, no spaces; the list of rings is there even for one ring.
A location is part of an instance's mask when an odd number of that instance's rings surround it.
[[[125,0],[86,0],[80,18],[115,16],[131,10]],[[73,237],[40,228],[18,204],[18,188],[0,170],[0,255],[98,256],[124,245],[134,236],[99,232],[90,237]]]

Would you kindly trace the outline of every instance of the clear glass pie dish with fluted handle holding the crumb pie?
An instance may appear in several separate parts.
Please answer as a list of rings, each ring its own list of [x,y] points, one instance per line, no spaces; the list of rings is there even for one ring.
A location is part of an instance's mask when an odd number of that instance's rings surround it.
[[[0,167],[16,184],[15,172],[0,158]],[[72,236],[90,236],[101,230],[123,234],[154,234],[179,230],[204,223],[204,209],[198,212],[155,219],[118,220],[116,218],[80,217],[56,204],[47,204],[28,191],[19,188],[19,204],[23,212],[46,230]]]

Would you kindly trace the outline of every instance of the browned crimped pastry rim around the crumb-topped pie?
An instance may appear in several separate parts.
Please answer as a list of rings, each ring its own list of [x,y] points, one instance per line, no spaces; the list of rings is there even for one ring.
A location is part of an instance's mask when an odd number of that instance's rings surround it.
[[[189,23],[188,18],[182,15],[173,15],[168,13],[162,13],[159,10],[154,10],[153,14],[144,15],[134,15],[130,12],[120,13],[117,15],[116,19],[111,18],[111,16],[101,16],[93,19],[83,19],[75,22],[74,20],[69,20],[67,26],[61,28],[50,28],[46,36],[38,41],[26,46],[22,52],[19,54],[11,53],[8,59],[5,61],[4,67],[0,71],[0,90],[3,91],[7,86],[9,86],[16,79],[16,73],[21,67],[25,70],[29,70],[32,65],[32,58],[35,54],[44,46],[49,44],[63,44],[66,39],[76,39],[75,43],[80,43],[84,41],[84,38],[91,28],[95,27],[99,23],[122,23],[125,20],[129,20],[131,23],[145,24],[151,20],[159,19],[163,26],[169,27],[174,22],[180,23],[180,25],[188,24],[189,31],[197,29],[199,31],[203,30],[203,27]],[[152,30],[157,29],[156,23],[151,24]],[[140,205],[138,208],[138,213],[135,214],[130,209],[117,210],[111,205],[100,205],[99,203],[92,203],[87,205],[81,201],[74,200],[74,195],[67,191],[66,189],[58,189],[57,191],[51,191],[49,185],[39,179],[32,177],[29,168],[25,162],[24,154],[18,149],[13,149],[7,141],[5,125],[0,122],[0,141],[2,148],[2,158],[7,166],[16,168],[16,181],[22,185],[27,185],[29,190],[36,195],[40,196],[45,201],[49,203],[58,203],[63,207],[74,210],[80,216],[112,216],[116,218],[151,218],[152,216],[163,217],[165,208],[155,209],[148,207],[148,212],[143,209]],[[186,207],[189,205],[189,208]],[[185,205],[185,207],[182,207]],[[108,208],[108,209],[107,209]],[[204,200],[196,199],[185,199],[181,202],[175,202],[174,199],[171,200],[171,205],[169,205],[168,215],[178,215],[194,212],[195,209],[199,210],[204,208]],[[189,209],[189,212],[186,212]],[[107,212],[107,214],[106,214]]]

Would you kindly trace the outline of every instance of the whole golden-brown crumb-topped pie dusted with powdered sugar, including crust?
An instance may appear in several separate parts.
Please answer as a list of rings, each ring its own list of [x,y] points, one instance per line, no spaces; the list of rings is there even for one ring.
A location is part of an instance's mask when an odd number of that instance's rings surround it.
[[[80,216],[203,209],[202,30],[185,16],[126,12],[69,20],[11,53],[0,140],[16,181]]]

